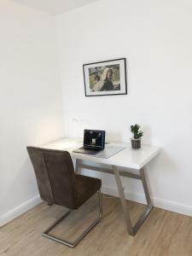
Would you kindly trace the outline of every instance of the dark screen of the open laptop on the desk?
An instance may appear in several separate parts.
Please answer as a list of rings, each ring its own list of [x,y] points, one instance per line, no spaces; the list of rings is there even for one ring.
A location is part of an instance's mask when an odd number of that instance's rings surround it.
[[[96,150],[105,148],[105,131],[84,130],[84,148]]]

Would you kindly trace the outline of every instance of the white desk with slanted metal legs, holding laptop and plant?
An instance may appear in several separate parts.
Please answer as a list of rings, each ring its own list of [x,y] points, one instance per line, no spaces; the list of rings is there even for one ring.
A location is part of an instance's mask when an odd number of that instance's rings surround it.
[[[150,160],[154,158],[160,152],[160,148],[154,146],[143,146],[139,150],[131,149],[130,144],[123,143],[110,143],[107,146],[124,146],[125,149],[120,151],[117,154],[109,157],[108,159],[98,158],[96,156],[90,156],[87,154],[78,154],[73,153],[73,149],[79,148],[82,146],[82,141],[78,139],[61,139],[59,141],[55,141],[53,143],[46,144],[41,148],[49,148],[49,149],[57,149],[62,151],[68,151],[72,158],[76,160],[75,172],[79,172],[80,168],[94,170],[98,172],[107,172],[113,173],[118,191],[119,198],[121,201],[121,205],[125,214],[125,222],[127,225],[127,230],[131,236],[134,236],[137,233],[137,230],[143,224],[144,219],[148,216],[148,213],[152,210],[153,206],[150,200],[150,195],[148,193],[148,184],[145,178],[145,170],[144,167],[148,164]],[[89,166],[82,164],[82,160],[88,160],[100,164],[105,164],[107,167],[97,167],[97,166]],[[130,172],[131,170],[138,170],[139,174],[134,172]],[[129,214],[129,209],[125,201],[124,190],[122,187],[122,183],[120,180],[120,176],[131,177],[140,179],[143,183],[143,189],[145,192],[147,207],[143,214],[138,218],[137,224],[132,226],[131,218]]]

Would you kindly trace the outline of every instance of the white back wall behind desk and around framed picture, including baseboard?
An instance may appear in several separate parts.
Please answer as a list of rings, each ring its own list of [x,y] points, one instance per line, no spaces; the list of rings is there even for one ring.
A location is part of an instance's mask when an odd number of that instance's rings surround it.
[[[182,0],[101,0],[56,19],[65,132],[104,129],[129,142],[143,125],[144,143],[162,152],[148,166],[154,203],[192,215],[192,8]],[[84,63],[127,58],[127,96],[84,96]],[[113,177],[102,176],[115,193]],[[138,183],[124,179],[131,198]],[[127,192],[127,191],[126,191]]]

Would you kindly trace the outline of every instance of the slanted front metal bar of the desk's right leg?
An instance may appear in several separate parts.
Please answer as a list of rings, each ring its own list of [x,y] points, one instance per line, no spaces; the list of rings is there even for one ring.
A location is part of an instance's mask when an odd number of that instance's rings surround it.
[[[119,170],[118,170],[117,166],[113,166],[113,171],[114,171],[114,177],[116,179],[116,183],[117,183],[117,187],[118,187],[118,191],[119,191],[119,198],[120,198],[121,205],[122,205],[122,208],[123,208],[123,212],[124,212],[124,215],[125,215],[125,222],[126,222],[127,230],[128,230],[128,233],[131,236],[134,236],[135,234],[134,234],[134,230],[133,230],[133,227],[132,227],[132,224],[131,224],[130,213],[129,213],[127,203],[125,201],[124,190],[123,190],[123,187],[122,187],[122,183],[121,183],[120,175],[119,175]]]

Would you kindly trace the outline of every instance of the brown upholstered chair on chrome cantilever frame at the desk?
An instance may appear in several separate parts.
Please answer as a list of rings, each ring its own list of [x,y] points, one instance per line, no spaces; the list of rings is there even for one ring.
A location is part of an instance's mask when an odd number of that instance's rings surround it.
[[[69,247],[75,247],[102,218],[102,181],[95,177],[76,174],[73,161],[67,151],[35,147],[27,147],[27,151],[37,178],[39,194],[50,205],[56,204],[76,210],[97,192],[99,216],[73,243],[49,235],[49,231],[56,224],[59,224],[63,218],[66,218],[71,211],[59,218],[55,224],[52,224],[42,234]]]

